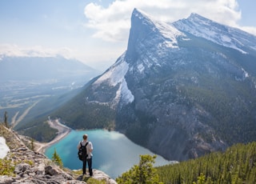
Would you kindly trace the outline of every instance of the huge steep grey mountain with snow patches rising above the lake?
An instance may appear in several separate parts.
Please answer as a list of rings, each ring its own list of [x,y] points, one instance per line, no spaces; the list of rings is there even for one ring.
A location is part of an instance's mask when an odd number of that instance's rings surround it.
[[[198,14],[167,24],[135,9],[126,52],[56,114],[74,128],[114,127],[174,160],[253,141],[255,43]]]

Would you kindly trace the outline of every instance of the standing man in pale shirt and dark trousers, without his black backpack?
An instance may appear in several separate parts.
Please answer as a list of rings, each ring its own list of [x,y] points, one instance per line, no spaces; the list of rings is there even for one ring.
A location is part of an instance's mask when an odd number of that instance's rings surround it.
[[[84,134],[82,136],[82,138],[83,138],[83,140],[78,143],[78,150],[79,150],[79,148],[80,148],[80,146],[82,144],[82,146],[86,146],[86,152],[88,154],[88,157],[82,161],[82,177],[86,176],[86,162],[88,163],[89,174],[90,174],[90,176],[92,176],[93,175],[93,170],[92,170],[92,157],[93,157],[93,154],[91,152],[94,149],[93,148],[93,144],[91,142],[87,141],[87,138],[88,138],[87,134]],[[88,142],[87,145],[86,145],[86,142]]]

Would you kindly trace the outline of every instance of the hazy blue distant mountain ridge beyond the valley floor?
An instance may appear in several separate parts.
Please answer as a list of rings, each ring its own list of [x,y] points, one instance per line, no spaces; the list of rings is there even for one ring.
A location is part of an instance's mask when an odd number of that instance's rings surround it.
[[[95,69],[75,59],[62,57],[3,57],[0,60],[1,81],[46,81],[92,78]],[[86,80],[84,80],[85,82]]]

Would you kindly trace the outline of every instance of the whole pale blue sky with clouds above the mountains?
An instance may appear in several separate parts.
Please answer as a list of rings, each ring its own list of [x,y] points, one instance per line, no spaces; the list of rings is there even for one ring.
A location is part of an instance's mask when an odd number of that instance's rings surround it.
[[[63,56],[106,70],[126,51],[134,8],[166,22],[197,13],[256,35],[255,0],[1,0],[3,56]]]

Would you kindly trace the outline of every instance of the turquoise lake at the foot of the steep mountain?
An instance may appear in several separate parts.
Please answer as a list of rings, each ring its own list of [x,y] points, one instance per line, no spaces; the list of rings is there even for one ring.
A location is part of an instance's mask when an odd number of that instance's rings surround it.
[[[111,178],[117,178],[122,173],[138,164],[140,154],[154,155],[150,150],[131,142],[124,134],[107,130],[72,130],[61,141],[46,150],[46,156],[51,158],[56,149],[62,158],[63,165],[71,170],[82,169],[82,162],[78,159],[78,142],[82,135],[88,134],[88,140],[93,143],[93,169],[102,170]],[[154,166],[171,163],[157,155]]]

